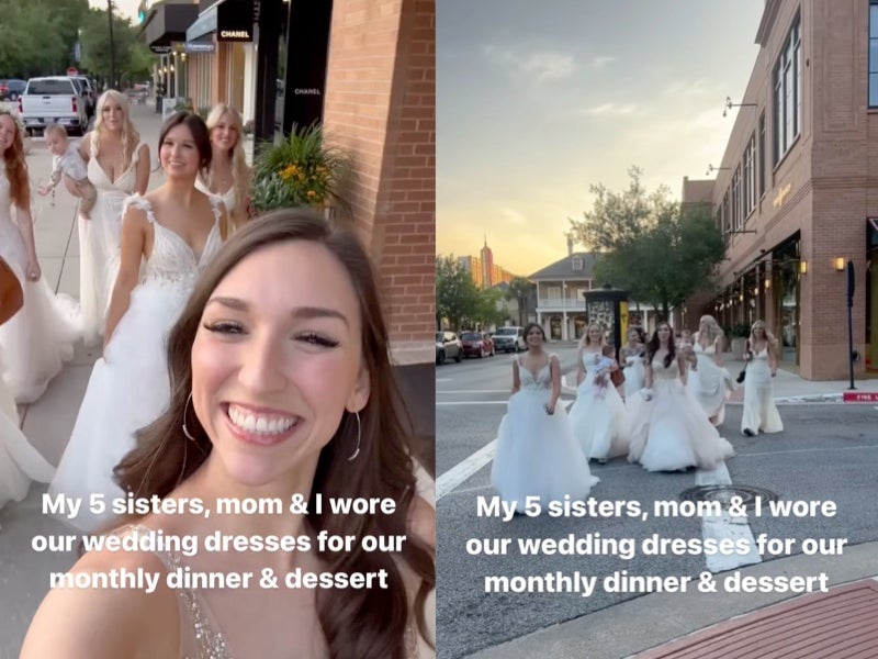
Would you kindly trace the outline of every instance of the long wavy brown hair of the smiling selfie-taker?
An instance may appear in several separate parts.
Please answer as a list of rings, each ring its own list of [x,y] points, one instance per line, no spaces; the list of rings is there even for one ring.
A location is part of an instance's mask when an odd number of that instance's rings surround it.
[[[333,439],[324,447],[314,476],[315,494],[326,498],[392,498],[393,515],[308,514],[314,533],[352,535],[408,535],[402,558],[420,578],[415,600],[416,623],[429,639],[425,601],[436,585],[430,549],[408,534],[407,515],[414,502],[415,478],[406,438],[410,422],[402,404],[389,358],[387,332],[374,272],[365,250],[352,232],[330,226],[311,210],[282,210],[245,225],[216,254],[200,277],[180,320],[168,339],[171,381],[170,406],[155,423],[137,434],[138,447],[116,467],[116,481],[137,496],[167,496],[206,459],[212,444],[194,414],[185,416],[191,390],[191,349],[204,306],[214,289],[247,256],[286,241],[311,241],[329,249],[350,276],[360,306],[362,355],[370,378],[370,395],[360,411],[360,454],[348,461],[357,444],[357,422],[345,414]],[[188,440],[183,421],[195,437]],[[309,511],[314,505],[308,506]],[[357,543],[361,547],[361,543]],[[386,570],[390,588],[371,590],[320,590],[317,614],[333,658],[386,659],[406,656],[406,629],[410,624],[405,585],[389,554],[351,552],[320,557],[339,572]]]

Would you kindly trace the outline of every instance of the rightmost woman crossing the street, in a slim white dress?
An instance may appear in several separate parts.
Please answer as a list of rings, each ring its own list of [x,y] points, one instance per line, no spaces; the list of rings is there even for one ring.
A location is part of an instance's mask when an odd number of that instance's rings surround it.
[[[741,432],[748,437],[758,433],[779,433],[784,422],[775,405],[774,378],[777,375],[777,339],[765,327],[765,321],[756,321],[750,331],[744,353],[746,378],[744,379],[744,414]]]

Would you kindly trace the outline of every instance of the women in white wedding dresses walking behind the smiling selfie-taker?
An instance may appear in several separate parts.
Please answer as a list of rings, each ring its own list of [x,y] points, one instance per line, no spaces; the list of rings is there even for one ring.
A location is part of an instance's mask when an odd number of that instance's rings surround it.
[[[103,338],[103,357],[57,471],[23,440],[16,420],[7,423],[7,415],[0,424],[0,506],[23,499],[30,480],[50,481],[52,492],[71,496],[120,495],[114,466],[134,447],[135,431],[167,404],[165,337],[200,270],[247,219],[240,115],[219,105],[206,124],[191,113],[168,120],[158,153],[165,182],[147,193],[149,147],[139,139],[125,97],[115,90],[101,96],[94,130],[79,146],[98,190],[90,217],[78,220],[79,303],[54,294],[42,280],[21,142],[14,118],[0,115],[7,163],[0,172],[0,244],[25,289],[23,308],[0,327],[3,387],[11,400],[34,402],[79,339],[93,346]],[[13,471],[18,478],[5,477]],[[76,521],[86,530],[100,522]]]

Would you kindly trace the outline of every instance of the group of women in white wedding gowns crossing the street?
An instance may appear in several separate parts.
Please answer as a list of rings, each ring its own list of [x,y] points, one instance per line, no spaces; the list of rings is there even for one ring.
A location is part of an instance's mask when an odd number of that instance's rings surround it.
[[[588,468],[593,459],[627,456],[648,471],[679,471],[711,469],[734,455],[717,429],[734,383],[722,365],[723,333],[712,316],[703,316],[699,331],[680,343],[667,323],[645,344],[640,331],[630,330],[619,350],[621,365],[605,357],[605,331],[590,324],[577,351],[570,414],[558,404],[560,366],[543,349],[542,328],[531,324],[526,332],[531,355],[513,366],[514,394],[492,468],[492,484],[519,511],[528,496],[545,502],[587,495],[598,480]],[[777,369],[776,344],[762,321],[754,323],[750,345],[742,429],[779,432],[770,380],[765,386]],[[610,376],[619,369],[624,384],[617,389]]]

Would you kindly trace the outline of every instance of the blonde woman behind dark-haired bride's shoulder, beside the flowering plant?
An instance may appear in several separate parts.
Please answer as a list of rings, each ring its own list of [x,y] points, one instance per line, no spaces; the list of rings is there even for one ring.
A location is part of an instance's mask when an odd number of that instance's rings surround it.
[[[234,231],[249,219],[250,168],[244,155],[243,121],[237,110],[219,103],[211,110],[206,124],[213,155],[210,169],[198,178],[195,187],[223,202]]]

